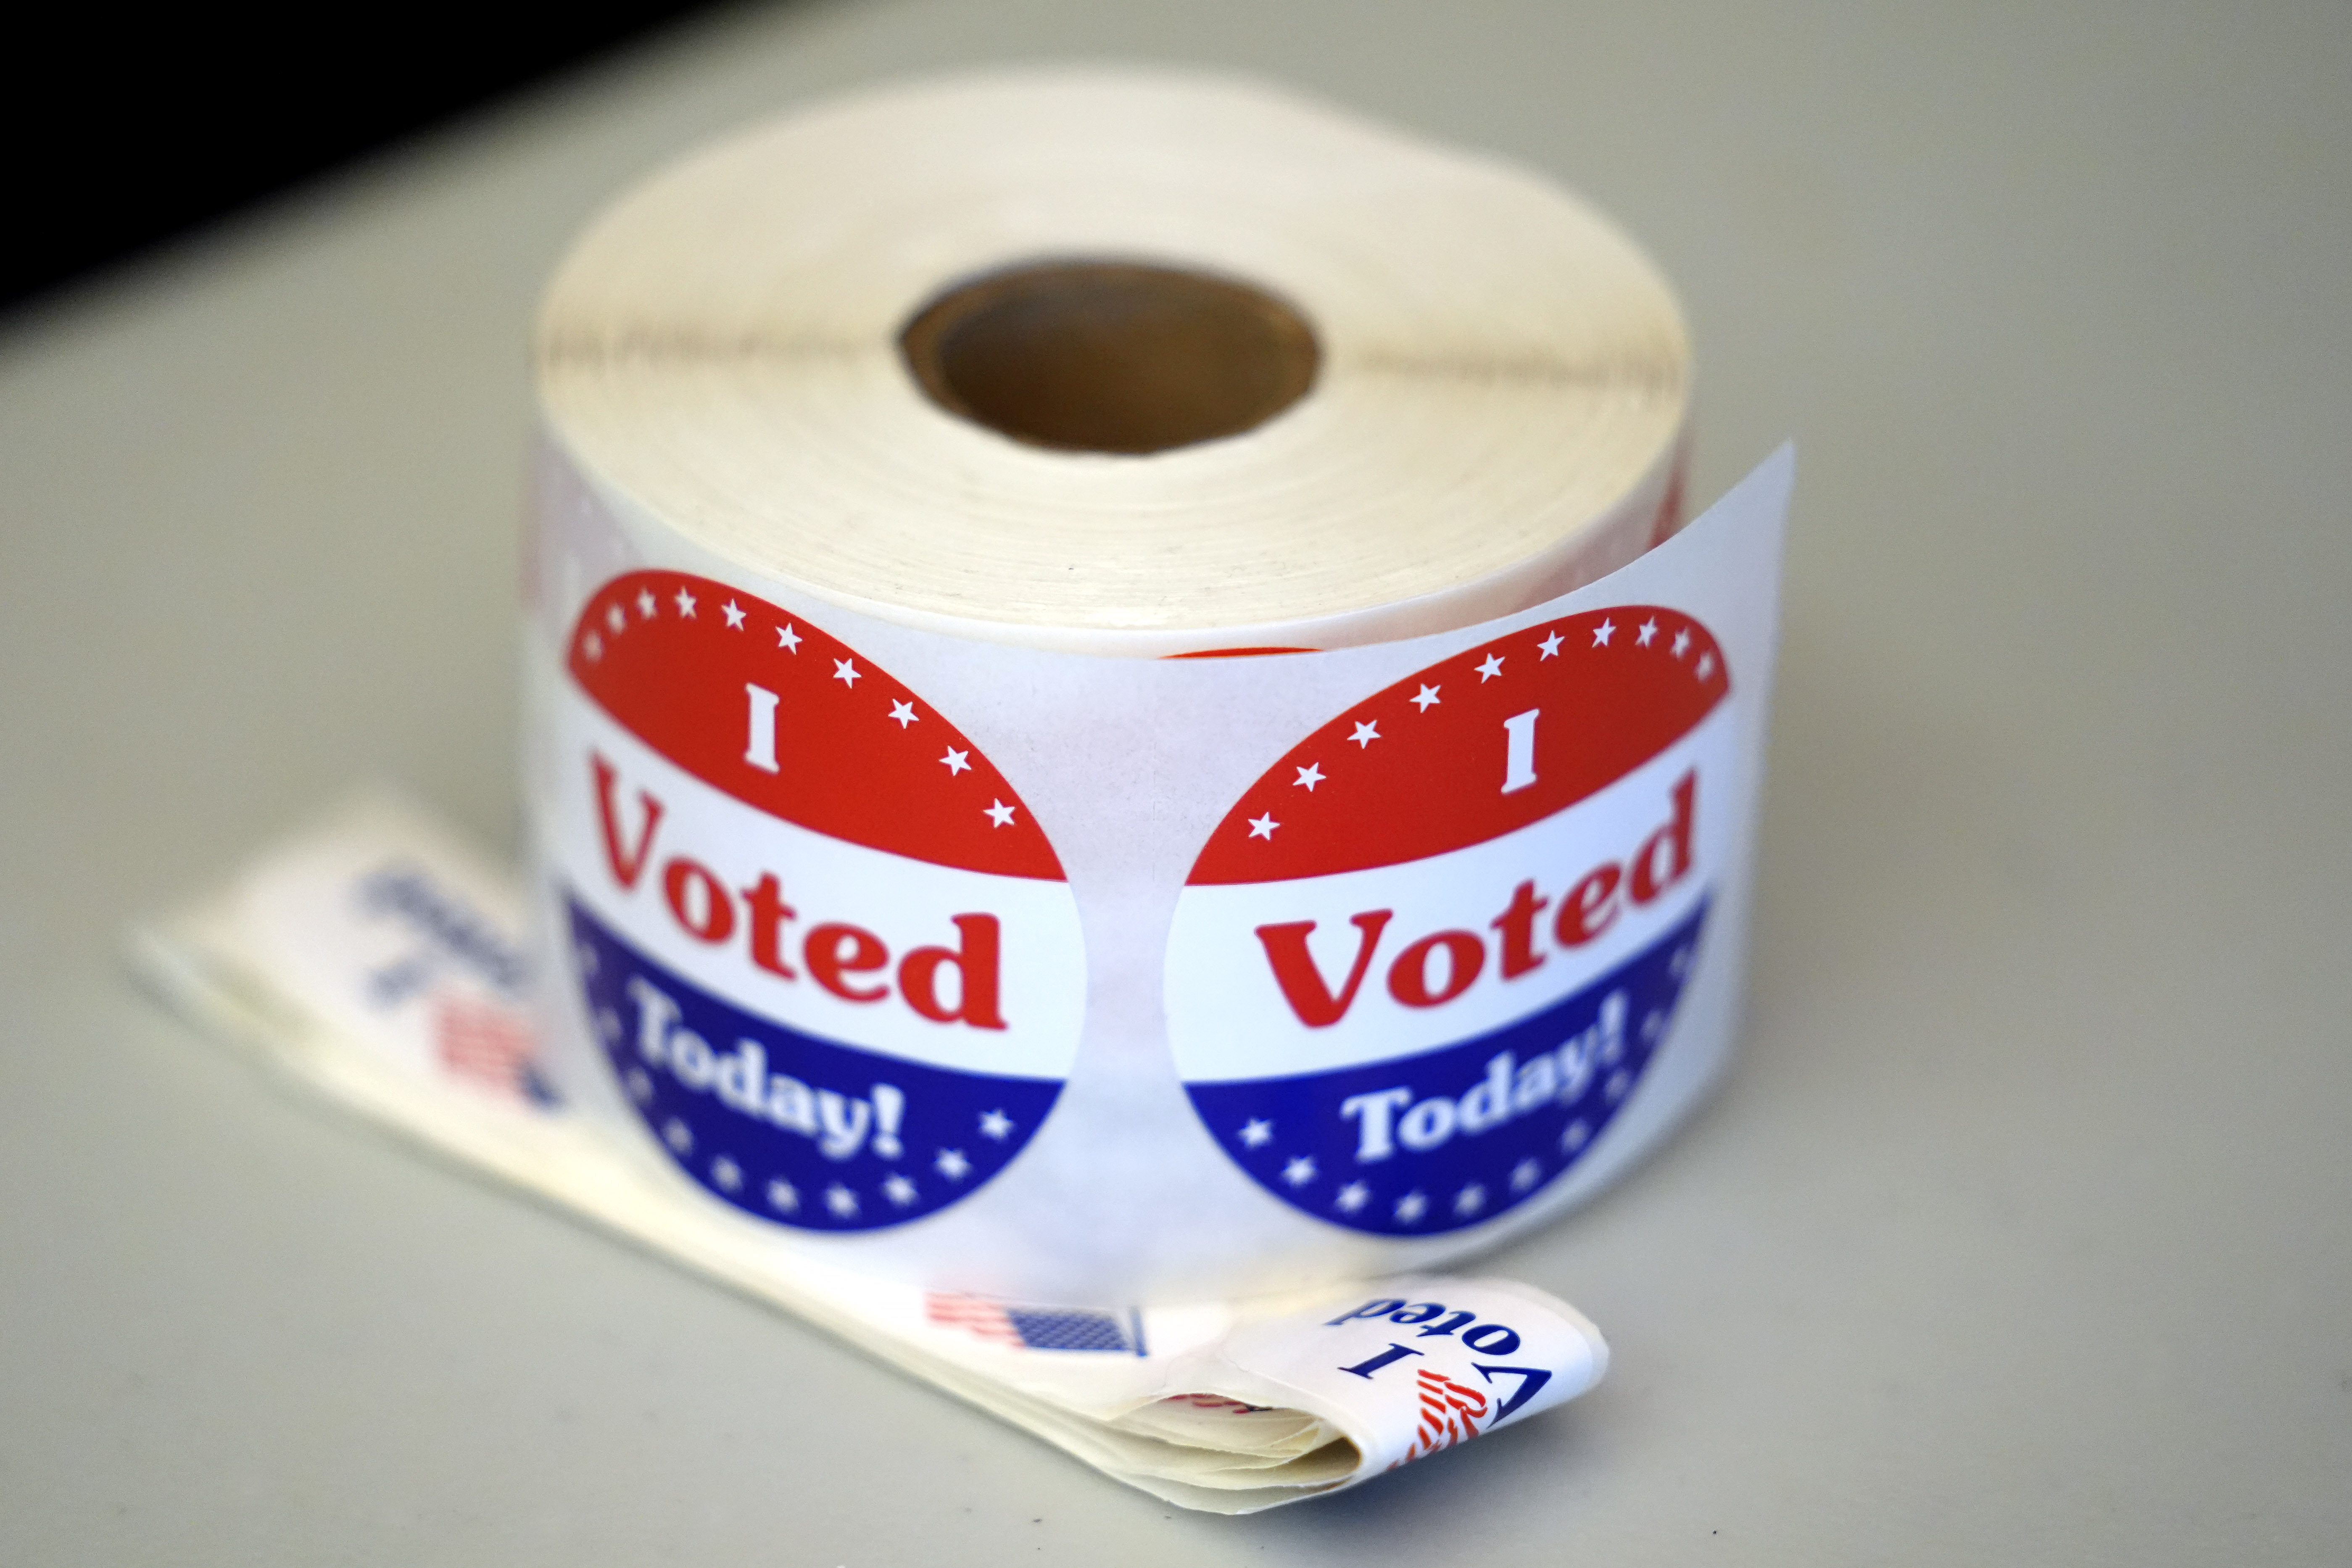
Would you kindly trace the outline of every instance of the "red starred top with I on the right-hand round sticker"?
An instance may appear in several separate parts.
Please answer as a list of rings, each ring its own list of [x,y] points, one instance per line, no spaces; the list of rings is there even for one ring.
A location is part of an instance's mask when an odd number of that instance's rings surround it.
[[[1512,632],[1294,745],[1188,882],[1327,877],[1484,844],[1623,778],[1729,689],[1715,635],[1682,611],[1618,604]]]

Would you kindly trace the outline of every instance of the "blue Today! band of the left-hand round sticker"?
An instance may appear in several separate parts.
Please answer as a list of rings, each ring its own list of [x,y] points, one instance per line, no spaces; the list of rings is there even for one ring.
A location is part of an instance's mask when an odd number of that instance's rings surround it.
[[[906,1225],[988,1185],[1061,1084],[924,1067],[743,1013],[579,900],[574,964],[623,1095],[710,1197],[795,1229]]]

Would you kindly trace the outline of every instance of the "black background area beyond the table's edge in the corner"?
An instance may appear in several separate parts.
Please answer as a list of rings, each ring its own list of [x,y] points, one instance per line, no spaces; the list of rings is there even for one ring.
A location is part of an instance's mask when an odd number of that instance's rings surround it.
[[[0,310],[715,0],[56,9],[0,28]]]

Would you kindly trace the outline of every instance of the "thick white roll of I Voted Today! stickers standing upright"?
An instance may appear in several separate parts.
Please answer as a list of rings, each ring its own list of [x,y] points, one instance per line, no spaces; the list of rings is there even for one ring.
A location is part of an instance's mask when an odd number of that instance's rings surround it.
[[[1247,82],[950,78],[623,195],[536,355],[553,1070],[771,1246],[1058,1302],[1421,1269],[1722,1060],[1738,651],[1543,618],[1679,527],[1689,343],[1548,181]]]

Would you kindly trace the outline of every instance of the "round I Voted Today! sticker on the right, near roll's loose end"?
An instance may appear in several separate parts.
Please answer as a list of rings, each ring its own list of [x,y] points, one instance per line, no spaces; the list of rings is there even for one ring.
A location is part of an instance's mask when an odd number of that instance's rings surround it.
[[[1176,1067],[1284,1204],[1491,1220],[1668,1044],[1733,835],[1731,675],[1696,618],[1510,632],[1357,703],[1225,813],[1176,905]]]

